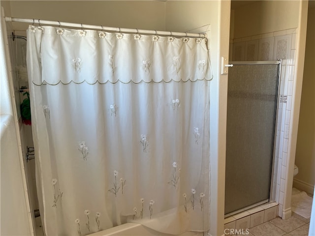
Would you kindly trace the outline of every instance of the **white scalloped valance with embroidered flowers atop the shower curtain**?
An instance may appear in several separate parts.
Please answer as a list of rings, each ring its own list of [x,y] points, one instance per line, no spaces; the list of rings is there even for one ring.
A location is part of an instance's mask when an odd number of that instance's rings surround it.
[[[36,45],[33,53],[39,57],[32,66],[42,71],[32,78],[35,85],[212,79],[205,38],[50,26],[30,26],[28,30],[28,40],[34,40]]]

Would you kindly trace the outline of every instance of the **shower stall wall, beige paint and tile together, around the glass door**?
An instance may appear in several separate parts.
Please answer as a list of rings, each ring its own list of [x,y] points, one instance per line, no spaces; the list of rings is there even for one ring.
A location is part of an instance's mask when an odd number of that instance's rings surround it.
[[[289,166],[294,158],[294,130],[297,128],[293,115],[294,103],[299,99],[298,93],[295,93],[298,88],[297,40],[300,37],[300,10],[299,1],[256,1],[239,7],[236,5],[233,9],[234,17],[231,18],[231,25],[234,25],[231,28],[233,38],[230,39],[232,60],[283,59],[280,87],[283,98],[279,104],[281,125],[278,125],[277,130],[280,142],[275,156],[275,163],[279,164],[274,184],[276,201],[279,203],[278,215],[284,218],[290,216],[290,199],[287,198],[290,194],[287,193],[291,192],[288,183],[292,181],[293,167],[291,171]]]

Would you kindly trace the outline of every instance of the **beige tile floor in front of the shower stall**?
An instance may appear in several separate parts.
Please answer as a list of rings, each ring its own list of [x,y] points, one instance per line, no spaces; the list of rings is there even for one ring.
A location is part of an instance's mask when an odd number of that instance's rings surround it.
[[[294,214],[283,220],[277,217],[273,220],[249,229],[250,236],[308,236],[310,219]]]

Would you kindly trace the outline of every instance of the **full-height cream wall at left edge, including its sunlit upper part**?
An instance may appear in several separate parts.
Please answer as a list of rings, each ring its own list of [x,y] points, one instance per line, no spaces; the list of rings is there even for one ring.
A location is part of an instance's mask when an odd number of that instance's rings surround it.
[[[19,114],[14,102],[19,98],[19,92],[14,89],[17,82],[13,57],[15,48],[12,41],[8,41],[5,25],[4,19],[1,17],[0,235],[31,236],[32,221],[25,178],[26,170],[20,149],[20,145],[23,145],[23,140],[20,140],[19,136],[21,123],[18,121]],[[10,33],[11,24],[7,24],[7,27],[7,32]],[[6,51],[8,48],[4,48],[4,45],[8,44],[10,50]],[[13,58],[12,61],[9,60],[9,55]],[[3,103],[3,101],[6,102]]]

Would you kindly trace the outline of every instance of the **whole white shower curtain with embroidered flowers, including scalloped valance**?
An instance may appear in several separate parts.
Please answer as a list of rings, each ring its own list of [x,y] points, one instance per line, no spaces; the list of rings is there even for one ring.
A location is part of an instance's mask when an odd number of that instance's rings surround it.
[[[46,235],[209,229],[205,39],[30,26],[27,57]]]

